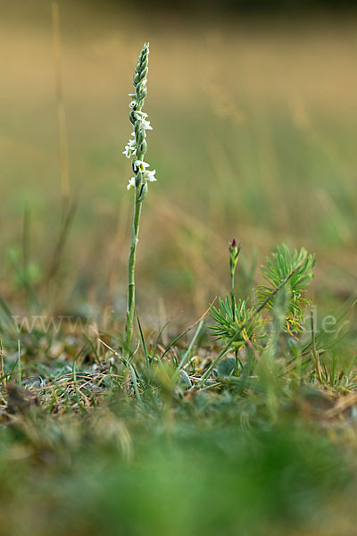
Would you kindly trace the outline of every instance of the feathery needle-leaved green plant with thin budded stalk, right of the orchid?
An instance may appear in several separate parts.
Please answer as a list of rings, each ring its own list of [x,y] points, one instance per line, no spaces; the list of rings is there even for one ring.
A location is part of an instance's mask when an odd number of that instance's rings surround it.
[[[240,250],[236,240],[229,244],[228,249],[230,296],[228,294],[225,300],[219,298],[218,307],[211,306],[210,308],[210,316],[216,322],[210,328],[216,340],[228,341],[221,357],[226,355],[229,348],[235,349],[236,354],[244,347],[263,348],[264,343],[259,343],[259,339],[264,339],[268,334],[265,333],[266,329],[262,329],[268,323],[268,319],[262,314],[263,309],[271,310],[276,305],[279,309],[278,312],[275,311],[272,331],[276,332],[277,329],[289,333],[303,331],[302,307],[310,304],[309,300],[303,297],[303,292],[313,277],[314,255],[308,255],[304,248],[300,250],[300,253],[295,251],[291,254],[284,244],[278,247],[272,255],[273,260],[268,259],[267,265],[262,267],[263,277],[269,284],[261,285],[256,289],[256,302],[253,306],[249,306],[248,299],[239,298],[237,301],[235,296],[234,275]],[[277,296],[278,293],[281,294],[282,289],[284,289],[285,304],[283,307]],[[277,318],[279,318],[278,328]],[[269,344],[269,339],[267,344]]]

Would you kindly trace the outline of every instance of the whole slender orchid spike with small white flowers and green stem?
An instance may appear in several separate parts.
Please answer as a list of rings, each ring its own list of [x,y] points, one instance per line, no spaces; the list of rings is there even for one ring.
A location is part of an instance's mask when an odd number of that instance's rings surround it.
[[[134,217],[131,235],[131,244],[129,251],[129,270],[128,270],[128,306],[125,326],[125,336],[123,344],[123,354],[127,358],[130,354],[131,339],[133,335],[134,311],[135,311],[135,261],[137,251],[137,237],[139,232],[139,222],[141,214],[141,205],[147,194],[147,183],[153,182],[155,170],[149,171],[148,163],[145,163],[144,157],[147,149],[146,130],[153,130],[150,121],[147,121],[147,113],[142,111],[147,94],[147,72],[149,63],[149,44],[145,43],[142,51],[137,58],[137,66],[133,84],[135,93],[129,94],[132,100],[129,104],[129,120],[134,126],[132,139],[129,139],[125,146],[123,154],[132,158],[132,169],[134,177],[129,180],[127,188],[135,190],[134,196]]]

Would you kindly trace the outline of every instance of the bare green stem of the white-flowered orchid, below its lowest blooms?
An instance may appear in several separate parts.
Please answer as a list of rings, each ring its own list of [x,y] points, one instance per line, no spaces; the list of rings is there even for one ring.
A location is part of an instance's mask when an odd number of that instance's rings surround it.
[[[135,261],[137,253],[137,236],[139,234],[139,222],[141,214],[140,188],[135,189],[134,198],[134,218],[131,233],[131,244],[128,263],[128,307],[127,322],[125,326],[125,340],[123,355],[125,359],[129,358],[131,339],[133,337],[134,312],[135,312]]]

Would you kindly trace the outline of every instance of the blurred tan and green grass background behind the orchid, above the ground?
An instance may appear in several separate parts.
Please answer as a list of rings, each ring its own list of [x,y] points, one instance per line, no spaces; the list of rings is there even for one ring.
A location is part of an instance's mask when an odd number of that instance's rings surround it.
[[[187,6],[186,6],[187,7]],[[243,243],[239,286],[278,242],[317,254],[313,299],[356,291],[357,19],[145,13],[129,4],[60,3],[71,194],[79,206],[62,259],[58,310],[125,306],[131,196],[129,96],[150,41],[147,158],[157,170],[141,224],[137,306],[196,317],[228,289],[228,241]],[[61,225],[51,3],[2,1],[0,290],[16,282],[29,211],[38,279]],[[76,301],[77,300],[77,301]],[[185,313],[183,314],[183,311]]]

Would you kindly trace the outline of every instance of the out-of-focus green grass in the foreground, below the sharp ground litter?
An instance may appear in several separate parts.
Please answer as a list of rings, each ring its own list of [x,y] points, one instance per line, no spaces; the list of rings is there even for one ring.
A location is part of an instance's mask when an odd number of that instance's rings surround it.
[[[4,533],[354,533],[343,427],[342,455],[292,408],[271,425],[228,391],[169,414],[153,401],[134,415],[119,400],[81,420],[32,415],[1,431]]]

